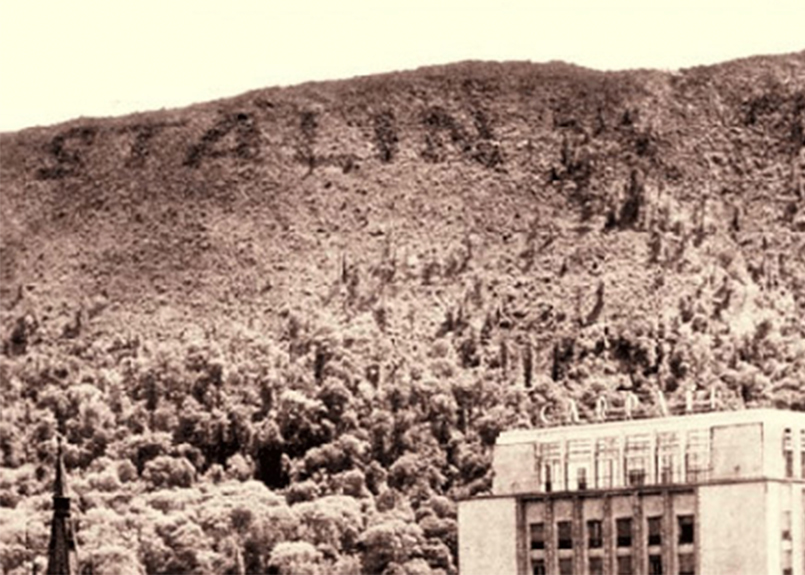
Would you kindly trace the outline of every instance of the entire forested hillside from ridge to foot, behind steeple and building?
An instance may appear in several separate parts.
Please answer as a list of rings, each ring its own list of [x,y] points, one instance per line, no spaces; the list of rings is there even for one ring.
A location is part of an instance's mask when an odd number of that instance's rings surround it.
[[[805,409],[804,150],[805,52],[0,134],[0,572],[59,433],[95,574],[446,575],[543,405]]]

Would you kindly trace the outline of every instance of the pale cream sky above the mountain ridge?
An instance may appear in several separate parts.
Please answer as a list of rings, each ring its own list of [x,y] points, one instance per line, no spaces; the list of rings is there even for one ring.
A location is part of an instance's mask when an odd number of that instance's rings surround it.
[[[0,131],[470,59],[678,69],[803,29],[805,0],[1,0]]]

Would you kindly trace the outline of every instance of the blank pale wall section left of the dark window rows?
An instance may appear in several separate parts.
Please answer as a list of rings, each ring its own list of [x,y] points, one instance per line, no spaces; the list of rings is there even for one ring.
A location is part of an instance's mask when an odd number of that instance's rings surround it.
[[[461,575],[517,575],[521,545],[514,497],[471,499],[458,506]]]

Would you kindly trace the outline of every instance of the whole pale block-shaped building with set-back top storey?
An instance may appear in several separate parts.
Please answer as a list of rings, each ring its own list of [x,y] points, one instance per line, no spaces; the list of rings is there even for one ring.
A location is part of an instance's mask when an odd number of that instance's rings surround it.
[[[511,431],[493,470],[461,575],[805,575],[805,413]]]

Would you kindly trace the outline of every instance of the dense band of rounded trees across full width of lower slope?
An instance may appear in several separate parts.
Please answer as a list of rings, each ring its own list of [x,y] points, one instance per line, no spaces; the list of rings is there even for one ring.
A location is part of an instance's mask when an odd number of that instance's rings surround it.
[[[44,567],[61,434],[86,572],[455,573],[457,500],[488,492],[497,435],[546,403],[589,415],[599,395],[715,387],[728,405],[805,407],[801,331],[767,310],[732,333],[724,289],[705,287],[667,326],[583,325],[544,367],[505,314],[476,332],[463,308],[396,362],[376,322],[48,342],[29,318],[0,359],[0,566]]]

